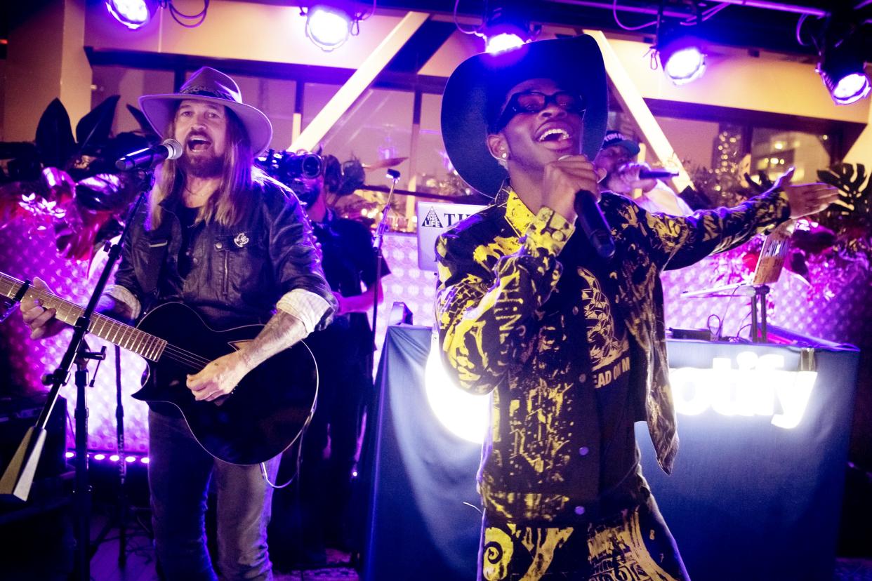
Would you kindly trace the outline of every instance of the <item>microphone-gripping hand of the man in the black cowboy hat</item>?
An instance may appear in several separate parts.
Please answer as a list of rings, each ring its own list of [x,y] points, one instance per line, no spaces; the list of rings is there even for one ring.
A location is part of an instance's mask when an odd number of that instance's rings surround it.
[[[583,155],[564,155],[545,165],[542,182],[542,206],[548,206],[569,222],[576,221],[576,193],[585,190],[599,200],[596,182],[605,171]]]

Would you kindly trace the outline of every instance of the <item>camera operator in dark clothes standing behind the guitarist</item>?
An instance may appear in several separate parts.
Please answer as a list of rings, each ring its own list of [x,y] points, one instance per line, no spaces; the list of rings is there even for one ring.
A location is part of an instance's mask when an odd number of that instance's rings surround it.
[[[355,169],[359,175],[355,177]],[[346,171],[344,172],[343,169]],[[382,261],[376,277],[376,252],[369,228],[356,220],[341,218],[328,199],[353,193],[363,184],[363,170],[352,162],[340,165],[324,156],[324,172],[316,179],[303,179],[300,199],[312,221],[317,246],[323,254],[324,274],[337,302],[330,326],[310,334],[306,344],[318,363],[318,404],[303,437],[299,497],[283,498],[284,509],[295,514],[284,530],[299,553],[281,566],[315,567],[326,562],[327,546],[353,551],[359,537],[353,524],[363,519],[352,514],[351,505],[358,439],[361,436],[364,403],[373,388],[374,342],[368,318],[376,296],[382,301],[381,278],[391,271]],[[293,507],[295,501],[298,504]],[[291,527],[293,528],[293,526]],[[292,539],[298,538],[296,542]]]

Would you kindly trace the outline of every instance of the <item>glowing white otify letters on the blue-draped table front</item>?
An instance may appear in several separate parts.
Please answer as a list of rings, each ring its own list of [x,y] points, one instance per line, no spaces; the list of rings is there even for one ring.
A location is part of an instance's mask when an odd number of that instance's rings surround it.
[[[795,428],[802,420],[816,371],[785,371],[782,355],[744,351],[732,361],[712,358],[711,369],[672,368],[670,383],[679,414],[713,409],[721,415],[764,415],[773,426]]]

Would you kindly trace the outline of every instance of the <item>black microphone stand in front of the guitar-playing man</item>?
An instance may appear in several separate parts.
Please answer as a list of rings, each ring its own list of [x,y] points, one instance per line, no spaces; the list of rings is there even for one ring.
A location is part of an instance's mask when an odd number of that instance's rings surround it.
[[[151,190],[153,185],[153,175],[146,179],[147,187],[143,188],[142,193],[136,199],[133,209],[128,214],[124,229],[119,237],[119,243],[113,244],[109,248],[109,257],[106,260],[106,266],[103,267],[103,272],[100,274],[99,280],[94,287],[91,298],[88,301],[85,311],[73,325],[72,339],[67,346],[64,356],[61,358],[58,368],[51,374],[47,374],[43,378],[46,385],[51,384],[51,389],[45,401],[42,413],[37,419],[37,423],[27,430],[24,439],[18,446],[15,456],[3,473],[3,478],[0,479],[0,497],[15,497],[17,500],[26,502],[30,495],[33,476],[36,473],[39,457],[42,455],[43,446],[45,443],[46,429],[51,411],[54,409],[55,403],[58,401],[58,393],[60,388],[67,382],[70,375],[70,368],[73,362],[76,363],[76,486],[73,493],[76,507],[77,523],[76,523],[76,572],[75,578],[81,581],[90,581],[91,579],[91,555],[90,555],[90,537],[91,537],[91,485],[88,482],[88,408],[85,387],[87,386],[87,360],[96,359],[102,360],[105,357],[105,349],[103,353],[92,353],[87,350],[85,343],[85,333],[91,325],[91,316],[97,307],[100,295],[106,288],[106,282],[109,280],[109,275],[112,273],[112,268],[118,261],[121,255],[121,245],[126,240],[127,233],[130,230],[130,223],[133,217],[139,211],[142,202],[146,198],[146,193]],[[30,281],[25,281],[24,288],[30,286]],[[24,293],[21,293],[24,296]]]

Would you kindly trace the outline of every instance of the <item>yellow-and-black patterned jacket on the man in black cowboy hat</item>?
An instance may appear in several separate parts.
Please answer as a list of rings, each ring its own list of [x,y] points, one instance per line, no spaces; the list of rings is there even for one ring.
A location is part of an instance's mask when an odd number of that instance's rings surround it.
[[[678,436],[659,274],[787,220],[787,196],[772,191],[688,217],[647,213],[612,193],[603,193],[600,206],[617,247],[608,269],[610,301],[633,344],[634,419],[648,422],[657,461],[669,473]],[[572,450],[582,417],[578,394],[592,381],[579,363],[586,339],[577,328],[579,305],[548,302],[573,232],[547,207],[534,215],[507,186],[436,245],[443,357],[461,388],[492,394],[479,490],[487,510],[512,519],[550,520],[585,494]]]

